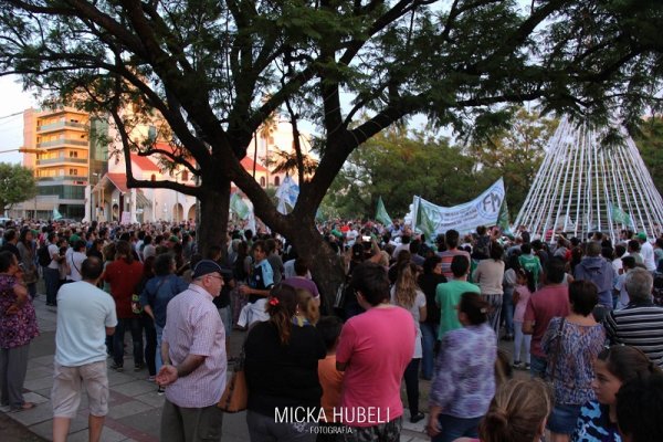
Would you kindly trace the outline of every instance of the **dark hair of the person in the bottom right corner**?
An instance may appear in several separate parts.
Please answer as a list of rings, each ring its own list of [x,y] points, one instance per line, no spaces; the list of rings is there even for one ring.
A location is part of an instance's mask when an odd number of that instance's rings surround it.
[[[663,375],[635,378],[617,393],[617,421],[632,442],[660,441],[663,434]]]

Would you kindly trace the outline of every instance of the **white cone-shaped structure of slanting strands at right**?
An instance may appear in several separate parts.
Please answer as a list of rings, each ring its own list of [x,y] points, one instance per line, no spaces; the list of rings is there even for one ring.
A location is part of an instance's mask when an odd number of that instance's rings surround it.
[[[655,238],[663,224],[663,199],[623,127],[623,143],[601,146],[606,129],[562,118],[515,225],[555,241],[557,232],[587,238],[601,231],[614,241],[630,229]]]

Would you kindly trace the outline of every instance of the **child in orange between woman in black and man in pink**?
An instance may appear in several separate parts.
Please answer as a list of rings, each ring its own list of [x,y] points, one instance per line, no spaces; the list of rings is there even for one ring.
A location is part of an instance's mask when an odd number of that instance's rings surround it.
[[[336,316],[324,316],[318,320],[316,328],[320,333],[325,346],[327,347],[327,356],[325,359],[318,360],[318,378],[320,386],[323,387],[323,397],[320,404],[325,410],[325,418],[327,422],[320,422],[320,427],[338,427],[334,415],[336,408],[340,406],[340,387],[343,385],[343,371],[336,369],[336,347],[338,346],[338,337],[343,329],[341,320]],[[325,433],[320,429],[318,433],[317,442],[335,441],[336,434],[333,432]]]

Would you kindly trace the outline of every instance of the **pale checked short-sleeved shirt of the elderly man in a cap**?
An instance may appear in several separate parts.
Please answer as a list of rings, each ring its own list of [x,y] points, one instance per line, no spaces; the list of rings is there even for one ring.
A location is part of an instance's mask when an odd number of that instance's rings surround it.
[[[225,328],[212,299],[204,288],[190,284],[168,303],[162,341],[168,343],[170,362],[206,356],[193,372],[166,387],[166,398],[179,407],[213,406],[225,389]]]

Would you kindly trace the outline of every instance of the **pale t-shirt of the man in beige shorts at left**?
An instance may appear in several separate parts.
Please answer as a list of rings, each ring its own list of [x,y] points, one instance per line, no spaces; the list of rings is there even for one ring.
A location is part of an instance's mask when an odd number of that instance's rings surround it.
[[[106,327],[115,327],[115,301],[80,281],[64,284],[57,292],[55,361],[64,367],[106,360]]]

